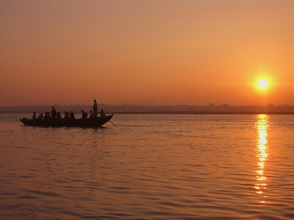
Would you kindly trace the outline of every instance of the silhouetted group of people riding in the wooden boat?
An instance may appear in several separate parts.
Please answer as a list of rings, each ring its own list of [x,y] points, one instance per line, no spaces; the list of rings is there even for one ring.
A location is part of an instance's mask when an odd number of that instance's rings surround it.
[[[81,118],[87,118],[88,117],[88,113],[85,112],[84,110],[81,110],[82,112],[82,117]],[[99,111],[100,116],[104,117],[105,116],[105,112],[103,111],[103,109],[101,109],[101,111]],[[95,118],[98,117],[98,104],[96,102],[96,99],[94,100],[94,105],[93,105],[93,111],[90,110],[90,118]],[[56,112],[54,106],[52,106],[52,110],[51,112],[46,112],[45,116],[43,113],[39,114],[38,117],[36,115],[36,112],[34,112],[34,114],[32,115],[32,119],[61,119],[61,114],[60,112]],[[74,113],[73,111],[69,112],[69,111],[65,111],[64,112],[64,119],[75,119],[74,117]]]

